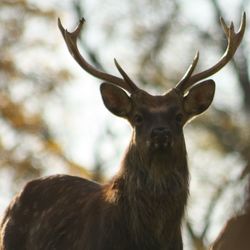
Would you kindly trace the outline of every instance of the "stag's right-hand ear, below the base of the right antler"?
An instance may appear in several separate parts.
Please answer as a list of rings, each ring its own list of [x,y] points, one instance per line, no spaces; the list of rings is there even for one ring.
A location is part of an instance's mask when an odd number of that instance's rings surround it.
[[[212,103],[215,92],[215,82],[206,80],[192,87],[184,97],[184,110],[191,118],[204,112]]]

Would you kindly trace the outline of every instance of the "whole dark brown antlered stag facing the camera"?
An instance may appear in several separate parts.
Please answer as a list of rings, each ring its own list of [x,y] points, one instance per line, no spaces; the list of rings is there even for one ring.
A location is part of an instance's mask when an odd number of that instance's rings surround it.
[[[234,56],[244,35],[221,18],[225,53],[193,74],[199,52],[181,80],[161,95],[140,88],[114,60],[122,77],[101,71],[81,55],[77,39],[85,20],[58,27],[80,67],[104,81],[105,107],[126,119],[132,136],[117,174],[104,184],[70,175],[32,180],[12,200],[1,222],[1,250],[182,250],[182,220],[189,196],[184,125],[211,105],[215,82],[207,79]]]

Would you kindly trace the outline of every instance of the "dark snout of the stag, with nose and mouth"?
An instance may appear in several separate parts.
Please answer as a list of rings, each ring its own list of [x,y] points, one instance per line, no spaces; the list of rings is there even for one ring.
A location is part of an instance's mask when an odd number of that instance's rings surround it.
[[[153,128],[151,131],[151,145],[155,149],[162,149],[171,146],[172,135],[168,128],[157,127]]]

